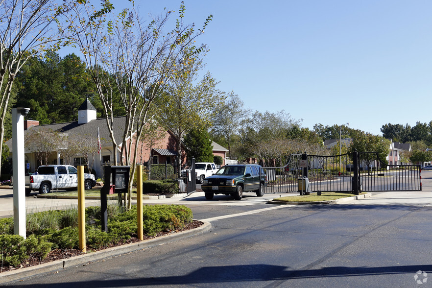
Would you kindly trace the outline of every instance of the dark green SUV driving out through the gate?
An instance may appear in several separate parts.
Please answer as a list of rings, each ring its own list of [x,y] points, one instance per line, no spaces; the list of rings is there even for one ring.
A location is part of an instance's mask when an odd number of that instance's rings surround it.
[[[215,194],[231,195],[240,200],[243,191],[254,191],[257,196],[263,196],[266,185],[267,176],[260,165],[227,165],[217,170],[215,175],[205,178],[201,189],[209,200]]]

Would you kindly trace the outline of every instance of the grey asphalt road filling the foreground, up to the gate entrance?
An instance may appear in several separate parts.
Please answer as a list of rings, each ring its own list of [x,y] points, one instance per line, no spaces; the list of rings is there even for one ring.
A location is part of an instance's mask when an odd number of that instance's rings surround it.
[[[253,193],[146,200],[187,205],[212,228],[3,286],[431,287],[432,171],[422,175],[421,192],[346,204],[277,206],[264,199],[278,195]]]

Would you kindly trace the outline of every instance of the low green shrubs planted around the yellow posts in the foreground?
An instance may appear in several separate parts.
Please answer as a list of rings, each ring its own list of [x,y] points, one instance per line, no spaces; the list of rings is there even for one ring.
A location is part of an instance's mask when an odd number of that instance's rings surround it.
[[[86,251],[95,252],[138,242],[136,206],[122,212],[108,209],[108,233],[100,227],[100,207],[86,209]],[[76,212],[76,213],[75,213]],[[98,216],[99,214],[99,216]],[[58,219],[58,223],[57,222]],[[143,208],[144,240],[201,226],[182,205],[146,205]],[[81,255],[78,249],[77,211],[48,211],[27,216],[27,239],[13,234],[13,218],[1,219],[0,271],[14,270]]]

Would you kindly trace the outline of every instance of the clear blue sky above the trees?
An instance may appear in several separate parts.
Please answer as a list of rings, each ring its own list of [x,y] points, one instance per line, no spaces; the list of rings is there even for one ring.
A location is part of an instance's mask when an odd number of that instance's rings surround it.
[[[214,15],[197,40],[210,48],[206,70],[246,108],[379,135],[432,120],[430,0],[184,2],[187,22]],[[180,3],[135,0],[143,15]]]

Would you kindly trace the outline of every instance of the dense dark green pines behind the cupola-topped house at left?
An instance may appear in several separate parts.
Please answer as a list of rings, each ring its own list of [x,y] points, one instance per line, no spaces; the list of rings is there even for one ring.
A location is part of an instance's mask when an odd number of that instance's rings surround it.
[[[75,54],[63,59],[53,51],[43,57],[32,57],[17,76],[18,105],[31,107],[28,118],[41,124],[77,120],[77,109],[88,98],[103,111],[96,87],[86,71],[86,65]],[[116,106],[122,108],[116,116],[125,114],[117,95]]]

